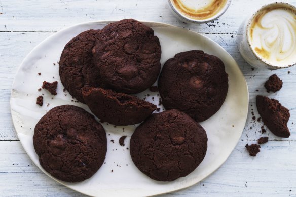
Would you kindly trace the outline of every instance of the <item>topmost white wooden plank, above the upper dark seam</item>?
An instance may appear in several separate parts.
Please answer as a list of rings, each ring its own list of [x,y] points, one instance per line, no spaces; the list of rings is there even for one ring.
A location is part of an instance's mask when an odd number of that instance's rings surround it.
[[[272,0],[235,0],[218,20],[208,24],[184,24],[171,13],[167,0],[150,1],[70,1],[70,0],[2,0],[0,31],[59,31],[90,20],[135,18],[158,21],[201,33],[236,33],[243,19]],[[296,4],[295,0],[286,0]],[[21,6],[20,6],[21,5]]]

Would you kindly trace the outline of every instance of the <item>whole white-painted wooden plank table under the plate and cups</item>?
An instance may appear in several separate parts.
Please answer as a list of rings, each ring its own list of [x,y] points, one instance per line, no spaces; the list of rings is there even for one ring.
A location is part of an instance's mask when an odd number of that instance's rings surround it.
[[[233,0],[227,12],[208,24],[186,24],[170,12],[167,0],[0,0],[0,196],[84,196],[47,177],[29,159],[18,140],[10,113],[15,73],[30,50],[64,27],[90,20],[134,18],[158,21],[199,32],[224,47],[239,64],[249,86],[249,116],[229,159],[202,182],[167,196],[296,196],[296,67],[278,71],[251,69],[240,56],[236,33],[242,20],[270,0]],[[296,5],[296,0],[286,0]],[[289,74],[288,74],[289,71]],[[283,80],[278,93],[263,86],[276,73]],[[290,109],[291,136],[261,134],[256,95],[269,95]],[[268,136],[256,157],[245,150]]]

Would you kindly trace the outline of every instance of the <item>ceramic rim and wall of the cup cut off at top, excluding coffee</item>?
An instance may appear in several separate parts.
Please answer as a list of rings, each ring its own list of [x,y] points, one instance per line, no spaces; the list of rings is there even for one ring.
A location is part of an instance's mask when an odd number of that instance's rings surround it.
[[[195,0],[200,1],[200,0]],[[191,2],[194,2],[194,0],[191,0]],[[208,2],[214,2],[214,0],[208,0]],[[173,3],[173,0],[168,0],[168,3],[170,5],[171,11],[175,14],[175,16],[183,22],[192,22],[192,23],[208,23],[211,22],[217,18],[219,18],[221,15],[223,15],[226,10],[228,9],[231,0],[226,0],[226,4],[223,8],[221,8],[217,13],[215,13],[213,16],[205,18],[205,19],[194,19],[192,17],[189,17],[188,15],[184,14],[183,12],[178,9],[175,4]]]

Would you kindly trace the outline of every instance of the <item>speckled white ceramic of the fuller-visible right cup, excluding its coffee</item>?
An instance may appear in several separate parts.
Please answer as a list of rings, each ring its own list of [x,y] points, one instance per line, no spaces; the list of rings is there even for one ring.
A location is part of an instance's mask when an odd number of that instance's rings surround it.
[[[238,46],[239,52],[241,53],[242,57],[246,60],[246,62],[248,62],[251,66],[255,68],[281,69],[281,68],[287,68],[287,67],[293,66],[296,64],[296,53],[294,54],[294,57],[295,57],[294,62],[286,65],[282,64],[279,66],[278,65],[279,63],[271,63],[267,61],[266,58],[260,57],[260,55],[256,54],[256,52],[254,51],[251,45],[249,31],[252,25],[252,21],[257,16],[258,13],[261,13],[261,11],[267,8],[272,8],[271,10],[274,10],[275,8],[286,8],[292,11],[293,13],[296,13],[296,7],[284,2],[274,2],[271,4],[265,5],[261,9],[257,10],[257,12],[252,14],[250,17],[246,18],[244,22],[241,24],[241,26],[239,27],[239,30],[237,33],[237,46]],[[296,22],[296,19],[294,20],[295,20],[294,22]]]

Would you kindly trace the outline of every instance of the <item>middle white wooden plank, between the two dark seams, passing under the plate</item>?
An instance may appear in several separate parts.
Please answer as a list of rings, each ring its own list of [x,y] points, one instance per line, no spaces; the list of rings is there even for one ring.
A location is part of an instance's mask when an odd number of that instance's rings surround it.
[[[52,33],[0,33],[0,43],[2,43],[1,57],[5,57],[2,58],[3,61],[0,62],[0,117],[2,117],[2,121],[0,122],[0,140],[18,139],[12,125],[9,107],[11,85],[17,68],[29,51],[51,34]],[[249,116],[242,139],[256,140],[261,136],[262,122],[253,121],[253,115],[251,114],[251,112],[254,111],[254,116],[256,118],[259,117],[255,107],[255,97],[260,94],[278,99],[284,106],[290,109],[291,113],[290,121],[288,122],[288,127],[292,133],[290,138],[277,138],[273,134],[269,134],[269,132],[267,136],[269,136],[271,140],[296,140],[296,101],[294,100],[294,95],[296,94],[296,89],[294,88],[296,86],[296,67],[276,71],[265,69],[252,70],[242,59],[237,50],[236,35],[209,33],[203,35],[217,42],[234,57],[248,83],[250,99]],[[290,71],[290,74],[287,73],[288,71]],[[264,82],[273,73],[278,74],[283,80],[284,85],[282,90],[278,93],[268,94],[264,88]]]

